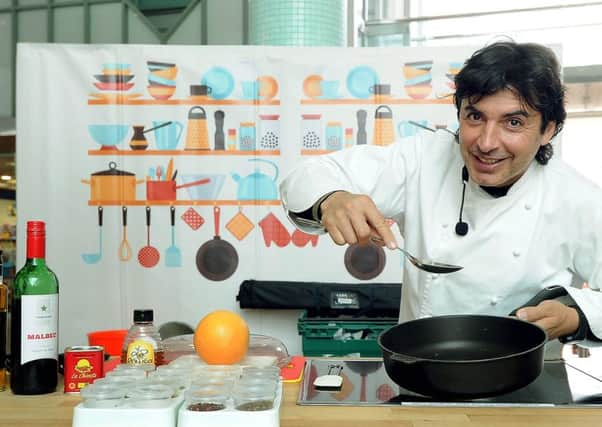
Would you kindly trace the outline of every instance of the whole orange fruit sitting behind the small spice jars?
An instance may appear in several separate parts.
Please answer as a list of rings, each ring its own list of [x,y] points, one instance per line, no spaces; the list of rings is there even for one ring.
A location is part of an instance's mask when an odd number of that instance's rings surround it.
[[[213,311],[197,325],[193,343],[197,354],[210,365],[238,363],[249,348],[249,327],[236,313]]]

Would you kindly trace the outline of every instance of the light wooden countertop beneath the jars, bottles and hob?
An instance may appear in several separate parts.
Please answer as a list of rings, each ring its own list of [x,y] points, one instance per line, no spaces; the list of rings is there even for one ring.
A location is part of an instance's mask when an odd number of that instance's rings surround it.
[[[281,427],[579,427],[602,426],[600,408],[426,408],[298,406],[299,384],[284,386]],[[61,386],[62,390],[62,386]],[[15,396],[0,392],[2,427],[71,427],[79,395]],[[149,426],[150,427],[150,426]]]

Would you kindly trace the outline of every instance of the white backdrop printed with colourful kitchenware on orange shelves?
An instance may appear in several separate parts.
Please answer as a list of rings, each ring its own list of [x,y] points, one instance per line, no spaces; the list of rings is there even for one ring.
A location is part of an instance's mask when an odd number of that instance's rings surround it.
[[[295,230],[278,185],[308,156],[455,131],[474,50],[20,44],[18,263],[46,220],[60,346],[134,308],[194,326],[245,279],[401,282],[397,253],[358,267]],[[298,315],[246,317],[298,353]]]

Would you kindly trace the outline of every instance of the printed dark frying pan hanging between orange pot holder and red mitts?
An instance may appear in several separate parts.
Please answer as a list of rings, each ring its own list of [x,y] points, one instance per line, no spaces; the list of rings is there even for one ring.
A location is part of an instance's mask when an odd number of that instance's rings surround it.
[[[215,236],[203,243],[196,253],[196,267],[203,276],[216,282],[232,276],[238,267],[238,254],[230,243],[219,236],[220,207],[213,207]]]

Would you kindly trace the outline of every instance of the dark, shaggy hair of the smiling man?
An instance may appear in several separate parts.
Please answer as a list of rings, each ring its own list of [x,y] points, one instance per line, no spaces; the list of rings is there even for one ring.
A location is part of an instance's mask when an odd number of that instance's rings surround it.
[[[554,122],[554,136],[566,119],[565,88],[554,52],[535,43],[496,42],[476,51],[455,77],[454,104],[458,116],[462,100],[476,103],[503,89],[514,91],[525,105],[541,114],[543,133]],[[535,160],[542,165],[552,158],[552,144],[539,147]]]

